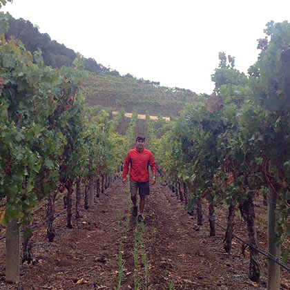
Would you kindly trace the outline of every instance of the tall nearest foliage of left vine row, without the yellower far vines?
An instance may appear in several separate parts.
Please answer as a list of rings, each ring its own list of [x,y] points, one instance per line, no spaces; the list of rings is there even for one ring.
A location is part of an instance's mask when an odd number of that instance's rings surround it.
[[[3,35],[0,59],[0,197],[7,199],[7,224],[29,220],[37,200],[52,189],[70,131],[78,128],[72,124],[84,100],[76,86],[83,72],[48,68],[40,51],[32,57],[23,43]]]

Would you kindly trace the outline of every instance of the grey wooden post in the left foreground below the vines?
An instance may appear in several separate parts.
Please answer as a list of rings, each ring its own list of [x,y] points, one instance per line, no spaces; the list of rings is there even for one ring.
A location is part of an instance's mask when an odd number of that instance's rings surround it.
[[[8,223],[6,229],[6,282],[19,281],[20,232],[17,220]]]

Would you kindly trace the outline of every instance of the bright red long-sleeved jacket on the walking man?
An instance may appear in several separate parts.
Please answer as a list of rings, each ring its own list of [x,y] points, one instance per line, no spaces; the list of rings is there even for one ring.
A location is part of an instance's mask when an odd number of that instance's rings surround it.
[[[126,179],[126,176],[129,171],[129,164],[131,165],[129,180],[135,182],[148,182],[149,180],[149,165],[151,167],[151,171],[156,171],[156,164],[153,158],[153,154],[151,151],[147,149],[143,149],[141,153],[137,150],[137,148],[132,149],[128,152],[127,157],[124,161],[123,168],[123,179]]]

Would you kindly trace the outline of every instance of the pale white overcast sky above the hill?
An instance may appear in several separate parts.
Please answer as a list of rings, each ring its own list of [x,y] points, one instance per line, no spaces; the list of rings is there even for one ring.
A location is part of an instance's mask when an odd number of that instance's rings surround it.
[[[13,0],[1,10],[121,75],[209,94],[218,52],[247,72],[267,22],[290,22],[289,0]]]

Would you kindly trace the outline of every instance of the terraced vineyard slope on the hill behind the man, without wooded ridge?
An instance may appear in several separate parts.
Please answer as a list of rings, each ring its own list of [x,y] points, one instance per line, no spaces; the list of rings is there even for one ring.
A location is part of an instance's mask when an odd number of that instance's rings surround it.
[[[100,105],[139,114],[177,116],[186,103],[204,98],[191,90],[168,88],[159,83],[135,77],[90,74],[84,81],[90,106]]]

